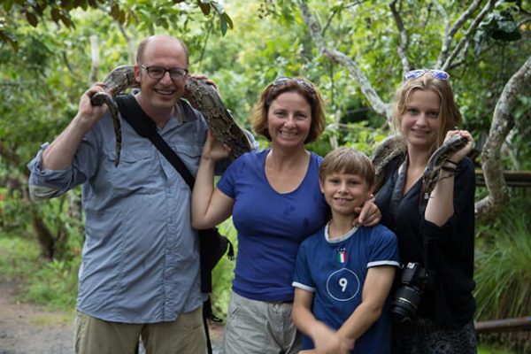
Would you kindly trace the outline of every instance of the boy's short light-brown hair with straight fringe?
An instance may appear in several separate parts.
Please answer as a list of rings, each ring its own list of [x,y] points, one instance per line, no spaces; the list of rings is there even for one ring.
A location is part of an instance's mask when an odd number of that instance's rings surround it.
[[[324,182],[332,173],[356,174],[363,178],[369,188],[374,184],[374,166],[363,152],[340,148],[327,153],[319,166],[319,181]]]

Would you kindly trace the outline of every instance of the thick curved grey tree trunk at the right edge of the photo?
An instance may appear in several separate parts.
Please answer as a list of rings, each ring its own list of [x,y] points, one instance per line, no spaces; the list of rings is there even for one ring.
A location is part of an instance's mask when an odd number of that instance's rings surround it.
[[[505,137],[511,131],[514,121],[512,110],[518,102],[521,91],[531,83],[531,57],[512,75],[505,84],[494,109],[489,137],[481,153],[481,168],[485,176],[485,184],[489,189],[489,196],[475,204],[476,218],[488,218],[497,212],[508,200],[507,184],[504,180],[500,150]]]

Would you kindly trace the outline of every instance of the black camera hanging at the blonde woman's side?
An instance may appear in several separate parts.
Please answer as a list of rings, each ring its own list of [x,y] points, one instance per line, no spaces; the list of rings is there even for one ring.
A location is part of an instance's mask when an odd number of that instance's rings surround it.
[[[419,263],[408,263],[404,266],[400,275],[400,284],[391,302],[391,316],[396,323],[412,322],[419,309],[427,279],[426,269]]]

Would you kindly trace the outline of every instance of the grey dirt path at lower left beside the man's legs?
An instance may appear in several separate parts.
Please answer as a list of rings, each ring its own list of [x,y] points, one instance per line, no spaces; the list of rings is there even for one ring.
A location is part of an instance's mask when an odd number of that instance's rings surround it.
[[[0,354],[73,353],[73,314],[48,312],[16,301],[15,282],[0,282]],[[223,326],[210,326],[214,354],[219,353]]]

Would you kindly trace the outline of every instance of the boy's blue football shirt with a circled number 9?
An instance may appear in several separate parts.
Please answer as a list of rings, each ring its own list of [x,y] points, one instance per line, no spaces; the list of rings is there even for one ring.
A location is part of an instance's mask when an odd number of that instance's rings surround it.
[[[322,227],[301,244],[293,286],[314,292],[315,318],[339,329],[361,304],[368,268],[398,266],[397,242],[389,228],[382,225],[354,228],[332,240],[327,234],[327,227]],[[380,319],[355,342],[352,353],[390,352],[388,306],[389,301]],[[304,335],[303,349],[312,348],[312,339]]]

